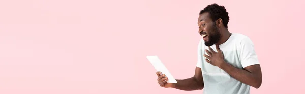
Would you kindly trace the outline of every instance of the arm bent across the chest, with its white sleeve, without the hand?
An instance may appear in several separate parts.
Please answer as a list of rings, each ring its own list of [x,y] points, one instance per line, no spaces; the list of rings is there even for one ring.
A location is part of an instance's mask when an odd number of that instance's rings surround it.
[[[225,61],[220,63],[219,68],[236,80],[259,88],[262,84],[262,72],[254,50],[254,44],[250,38],[247,37],[240,42],[239,55],[243,69],[236,68]]]

